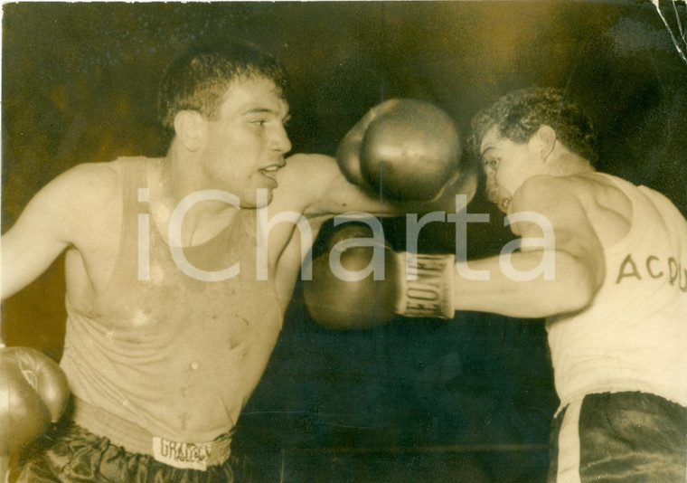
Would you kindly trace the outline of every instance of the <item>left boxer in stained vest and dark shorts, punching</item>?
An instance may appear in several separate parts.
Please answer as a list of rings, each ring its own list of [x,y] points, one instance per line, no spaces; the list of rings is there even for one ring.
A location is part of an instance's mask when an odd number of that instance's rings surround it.
[[[3,236],[3,298],[66,251],[73,424],[21,481],[233,480],[231,431],[315,238],[306,219],[384,209],[333,157],[285,160],[284,91],[251,47],[184,55],[160,98],[165,158],[76,166]]]

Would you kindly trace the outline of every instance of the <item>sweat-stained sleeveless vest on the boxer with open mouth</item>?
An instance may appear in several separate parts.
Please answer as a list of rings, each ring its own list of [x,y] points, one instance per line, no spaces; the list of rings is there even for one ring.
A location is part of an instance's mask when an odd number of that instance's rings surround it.
[[[67,293],[61,367],[84,402],[156,436],[209,441],[235,425],[283,314],[273,280],[256,277],[255,211],[239,210],[212,240],[184,248],[194,268],[215,272],[239,263],[238,275],[189,275],[139,196],[147,162],[115,161],[124,185],[117,263],[88,308],[71,304]]]

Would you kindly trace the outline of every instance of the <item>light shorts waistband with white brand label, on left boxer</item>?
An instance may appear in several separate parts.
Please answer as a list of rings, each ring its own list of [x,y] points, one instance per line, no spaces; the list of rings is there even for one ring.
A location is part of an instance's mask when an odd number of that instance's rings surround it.
[[[221,465],[231,454],[229,432],[207,442],[166,440],[135,422],[122,419],[76,396],[73,397],[73,405],[73,421],[77,425],[108,438],[112,444],[123,447],[127,452],[152,456],[177,468],[204,469],[205,466]]]

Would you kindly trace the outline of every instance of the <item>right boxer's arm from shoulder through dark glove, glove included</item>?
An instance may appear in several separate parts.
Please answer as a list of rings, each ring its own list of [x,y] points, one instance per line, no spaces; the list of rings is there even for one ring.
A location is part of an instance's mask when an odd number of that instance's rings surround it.
[[[453,254],[394,253],[383,235],[344,225],[330,252],[313,261],[314,280],[304,282],[311,315],[325,327],[347,329],[374,327],[395,314],[451,318],[469,310],[541,318],[586,308],[605,263],[583,202],[569,181],[532,179],[521,189],[511,215],[521,248],[457,266]],[[372,277],[381,270],[383,277]]]

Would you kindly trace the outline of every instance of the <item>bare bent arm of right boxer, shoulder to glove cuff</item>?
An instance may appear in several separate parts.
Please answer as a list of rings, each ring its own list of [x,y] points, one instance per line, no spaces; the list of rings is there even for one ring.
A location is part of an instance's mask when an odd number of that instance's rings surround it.
[[[456,310],[540,318],[576,312],[592,302],[605,278],[604,251],[569,182],[532,178],[513,197],[513,213],[522,212],[543,215],[552,233],[546,235],[547,227],[534,222],[513,223],[513,232],[541,244],[548,236],[550,245],[468,261],[470,270],[483,270],[488,279],[476,279],[475,272],[456,274]],[[531,270],[533,278],[526,275]]]

